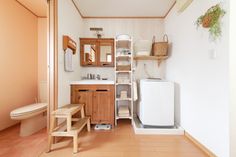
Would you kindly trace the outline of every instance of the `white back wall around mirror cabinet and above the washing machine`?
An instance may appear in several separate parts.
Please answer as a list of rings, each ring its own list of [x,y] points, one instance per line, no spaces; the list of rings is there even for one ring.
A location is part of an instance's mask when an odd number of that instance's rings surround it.
[[[138,39],[152,40],[153,35],[161,39],[164,34],[164,20],[162,19],[85,19],[84,20],[84,37],[96,37],[94,32],[89,30],[90,27],[102,27],[103,37],[115,38],[119,34],[128,34],[133,37],[134,42]],[[146,61],[139,62],[136,78],[147,77],[144,73],[144,63],[147,64],[148,72],[153,77],[164,77],[164,65],[159,68],[157,62]],[[113,68],[82,68],[82,76],[87,73],[101,74],[102,77],[114,79]]]

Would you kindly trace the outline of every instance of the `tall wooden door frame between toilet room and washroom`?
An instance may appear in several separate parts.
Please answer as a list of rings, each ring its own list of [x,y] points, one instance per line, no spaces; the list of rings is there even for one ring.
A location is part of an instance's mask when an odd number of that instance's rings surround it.
[[[48,108],[47,131],[50,128],[50,113],[58,107],[58,0],[47,0],[48,3]]]

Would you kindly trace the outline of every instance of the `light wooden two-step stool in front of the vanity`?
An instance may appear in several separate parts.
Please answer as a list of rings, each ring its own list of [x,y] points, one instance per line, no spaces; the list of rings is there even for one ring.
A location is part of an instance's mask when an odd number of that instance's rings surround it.
[[[73,118],[80,111],[81,118]],[[56,118],[65,118],[66,120],[56,125]],[[51,150],[53,137],[73,137],[73,153],[78,152],[78,134],[87,124],[87,130],[90,131],[90,118],[85,117],[84,104],[69,104],[59,108],[51,113],[51,127],[49,133],[48,151]]]

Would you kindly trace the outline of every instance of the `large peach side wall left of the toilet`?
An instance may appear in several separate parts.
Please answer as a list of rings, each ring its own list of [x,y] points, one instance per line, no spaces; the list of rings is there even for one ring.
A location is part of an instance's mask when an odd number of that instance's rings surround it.
[[[13,109],[37,97],[37,18],[15,0],[0,0],[0,130]]]

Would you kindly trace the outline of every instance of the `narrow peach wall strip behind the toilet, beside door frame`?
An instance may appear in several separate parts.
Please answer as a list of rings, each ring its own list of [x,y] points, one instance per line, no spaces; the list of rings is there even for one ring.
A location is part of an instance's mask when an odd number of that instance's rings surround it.
[[[38,18],[38,83],[47,81],[47,18]]]

